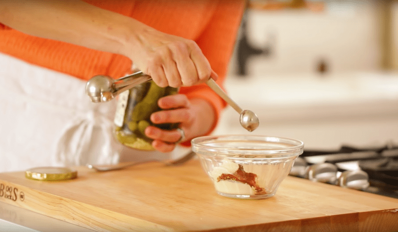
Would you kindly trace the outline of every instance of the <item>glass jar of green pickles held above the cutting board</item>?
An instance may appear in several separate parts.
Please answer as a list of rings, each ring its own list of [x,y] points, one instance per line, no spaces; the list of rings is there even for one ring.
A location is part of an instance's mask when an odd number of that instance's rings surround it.
[[[163,130],[178,128],[178,123],[153,124],[150,120],[153,112],[161,110],[158,106],[159,98],[177,93],[177,88],[159,87],[152,80],[120,93],[114,118],[116,140],[130,148],[155,150],[151,145],[152,139],[144,134],[145,128],[148,126]]]

